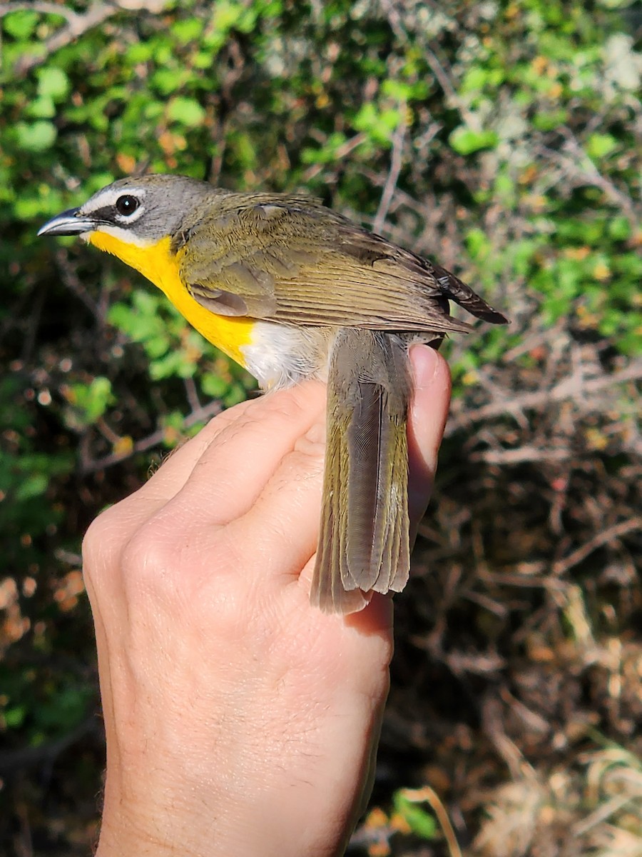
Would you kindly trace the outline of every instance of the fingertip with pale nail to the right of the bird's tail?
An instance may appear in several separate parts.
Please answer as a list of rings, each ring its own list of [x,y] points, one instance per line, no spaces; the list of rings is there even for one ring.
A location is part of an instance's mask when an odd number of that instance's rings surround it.
[[[425,512],[437,470],[450,404],[450,373],[443,357],[427,345],[413,346],[410,361],[414,395],[408,415],[409,505],[411,520],[417,522]]]

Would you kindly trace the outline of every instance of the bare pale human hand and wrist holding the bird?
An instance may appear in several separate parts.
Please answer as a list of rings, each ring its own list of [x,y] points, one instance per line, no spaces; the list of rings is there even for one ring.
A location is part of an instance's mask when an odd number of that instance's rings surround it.
[[[411,350],[411,506],[424,511],[449,372]],[[83,546],[107,774],[98,857],[343,854],[369,793],[392,602],[308,603],[324,386],[216,417]]]

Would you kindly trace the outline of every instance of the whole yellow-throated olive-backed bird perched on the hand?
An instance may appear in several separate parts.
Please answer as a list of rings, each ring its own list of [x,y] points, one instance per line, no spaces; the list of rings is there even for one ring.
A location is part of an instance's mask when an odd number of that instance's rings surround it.
[[[363,608],[410,568],[408,348],[471,328],[449,300],[505,324],[443,267],[296,195],[234,193],[182,176],[121,179],[39,235],[80,235],[161,289],[265,389],[328,384],[311,601]]]

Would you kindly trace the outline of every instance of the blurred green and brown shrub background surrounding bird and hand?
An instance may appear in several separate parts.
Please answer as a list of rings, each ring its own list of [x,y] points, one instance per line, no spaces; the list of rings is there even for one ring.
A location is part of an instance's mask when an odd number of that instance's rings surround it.
[[[350,853],[642,854],[640,4],[0,15],[2,853],[95,839],[86,525],[253,386],[128,269],[36,240],[114,177],[175,171],[321,196],[513,319],[447,344],[453,415]]]

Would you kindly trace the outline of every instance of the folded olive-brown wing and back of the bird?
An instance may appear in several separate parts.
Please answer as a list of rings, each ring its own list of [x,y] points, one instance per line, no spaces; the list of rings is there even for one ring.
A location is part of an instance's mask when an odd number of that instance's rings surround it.
[[[443,268],[354,225],[318,201],[220,197],[179,232],[181,279],[219,315],[294,325],[467,332],[448,298],[505,321]]]

